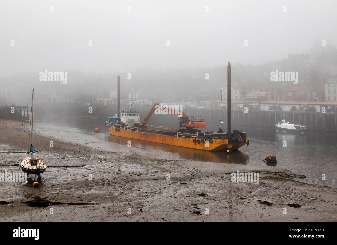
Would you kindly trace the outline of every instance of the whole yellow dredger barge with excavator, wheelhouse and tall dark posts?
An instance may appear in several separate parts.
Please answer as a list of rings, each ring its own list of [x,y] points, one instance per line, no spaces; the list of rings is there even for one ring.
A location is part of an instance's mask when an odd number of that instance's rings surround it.
[[[227,66],[227,132],[224,133],[219,127],[218,132],[201,133],[202,128],[206,128],[206,122],[203,117],[192,117],[191,119],[179,109],[178,106],[163,106],[154,104],[147,117],[140,123],[139,113],[137,111],[124,111],[120,108],[120,76],[117,76],[117,110],[118,115],[109,117],[105,121],[105,127],[109,129],[110,134],[130,139],[151,141],[167,145],[175,145],[198,150],[221,151],[237,150],[243,145],[249,145],[246,133],[238,130],[231,130],[231,63]],[[221,92],[222,100],[222,92]],[[160,110],[159,110],[160,109]],[[162,110],[162,111],[161,111]],[[156,114],[175,114],[180,117],[179,126],[182,129],[169,130],[166,127],[155,126],[154,129],[148,129],[146,122],[154,111]],[[220,103],[220,125],[222,107]]]

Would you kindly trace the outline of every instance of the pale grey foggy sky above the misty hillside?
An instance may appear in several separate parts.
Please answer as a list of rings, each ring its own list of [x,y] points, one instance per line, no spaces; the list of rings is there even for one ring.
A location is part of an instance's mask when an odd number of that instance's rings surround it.
[[[334,0],[2,0],[0,75],[261,65],[309,52],[315,39],[336,45],[336,7]]]

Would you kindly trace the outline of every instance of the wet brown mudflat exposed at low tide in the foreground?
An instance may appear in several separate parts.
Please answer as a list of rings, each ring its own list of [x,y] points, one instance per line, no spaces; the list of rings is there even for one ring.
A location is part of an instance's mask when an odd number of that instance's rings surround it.
[[[21,172],[28,129],[0,120],[0,172]],[[270,166],[164,160],[39,138],[47,171],[39,187],[0,182],[0,221],[336,220],[337,189],[295,181]],[[53,140],[54,146],[50,147]],[[107,142],[107,144],[109,144]],[[27,148],[27,149],[26,149]],[[233,172],[259,182],[232,182]],[[286,208],[286,210],[284,209]],[[286,213],[285,213],[286,211]]]

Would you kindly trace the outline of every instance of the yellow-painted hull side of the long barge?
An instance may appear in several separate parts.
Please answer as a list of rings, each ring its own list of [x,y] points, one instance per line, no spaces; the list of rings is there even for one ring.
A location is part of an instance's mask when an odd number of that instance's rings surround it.
[[[212,143],[193,143],[193,138],[180,138],[168,135],[161,135],[161,134],[152,134],[146,132],[137,132],[137,131],[128,131],[120,128],[120,131],[116,131],[115,127],[107,127],[112,135],[131,138],[131,139],[138,139],[138,140],[145,140],[151,141],[161,144],[167,145],[175,145],[181,147],[187,147],[197,150],[209,150],[209,151],[221,151],[221,150],[237,150],[241,146],[247,144],[248,139],[245,139],[245,142],[242,143],[231,143],[228,144],[228,140],[220,140],[220,139],[212,139]]]

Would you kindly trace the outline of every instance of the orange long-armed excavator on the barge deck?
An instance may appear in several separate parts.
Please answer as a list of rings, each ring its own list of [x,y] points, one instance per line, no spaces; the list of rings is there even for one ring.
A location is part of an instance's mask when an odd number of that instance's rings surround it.
[[[141,124],[136,124],[135,127],[141,127],[144,128],[146,127],[146,122],[150,119],[151,115],[155,110],[158,110],[158,114],[171,114],[171,115],[180,115],[179,118],[179,126],[180,127],[185,127],[186,129],[179,129],[179,132],[201,132],[200,130],[195,130],[194,128],[197,129],[204,129],[206,128],[206,122],[204,120],[204,117],[202,116],[192,116],[192,120],[186,116],[186,114],[183,111],[177,110],[177,107],[171,106],[171,107],[166,107],[161,104],[155,103],[147,117],[144,119],[144,121]],[[161,113],[160,113],[161,110]]]

